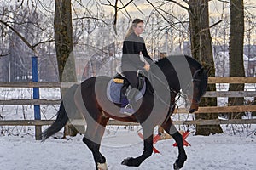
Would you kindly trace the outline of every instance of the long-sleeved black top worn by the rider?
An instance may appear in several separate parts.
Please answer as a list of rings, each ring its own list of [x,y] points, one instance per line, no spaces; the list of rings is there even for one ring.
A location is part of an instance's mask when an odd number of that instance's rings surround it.
[[[147,61],[152,61],[148,55],[143,37],[139,37],[133,32],[125,38],[123,43],[122,66],[127,68],[130,65],[137,69],[142,68],[145,63],[140,60],[140,52]]]

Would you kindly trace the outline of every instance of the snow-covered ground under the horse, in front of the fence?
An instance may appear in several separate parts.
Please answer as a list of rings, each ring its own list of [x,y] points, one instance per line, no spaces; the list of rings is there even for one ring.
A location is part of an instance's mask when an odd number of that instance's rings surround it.
[[[251,129],[253,130],[253,128]],[[59,134],[60,135],[60,134]],[[84,145],[81,135],[74,138],[50,138],[44,143],[30,135],[0,137],[0,162],[4,170],[41,169],[94,169],[90,150]],[[191,169],[255,169],[256,135],[252,133],[218,134],[211,136],[189,135],[191,146],[185,147],[188,160],[184,170]],[[160,154],[153,154],[140,167],[126,167],[121,161],[126,157],[139,156],[143,142],[137,130],[107,131],[102,141],[102,154],[107,158],[108,169],[172,169],[177,159],[173,139],[160,140],[154,146]]]

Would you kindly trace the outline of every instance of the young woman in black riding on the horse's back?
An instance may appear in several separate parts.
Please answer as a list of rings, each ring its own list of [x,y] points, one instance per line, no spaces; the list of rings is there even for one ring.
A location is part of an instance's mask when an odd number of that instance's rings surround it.
[[[132,25],[126,34],[125,41],[123,43],[123,56],[121,59],[121,68],[123,74],[130,82],[132,89],[129,91],[129,93],[127,93],[127,98],[129,99],[130,105],[122,105],[123,109],[121,109],[120,112],[124,112],[128,115],[134,113],[132,109],[132,103],[135,102],[134,97],[137,94],[137,71],[148,71],[150,68],[150,65],[148,63],[153,62],[153,60],[148,55],[148,51],[145,46],[143,37],[140,37],[143,31],[143,20],[133,20]],[[140,59],[140,54],[143,55],[144,59]]]

